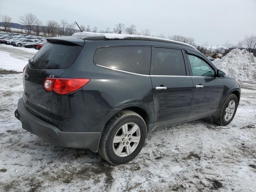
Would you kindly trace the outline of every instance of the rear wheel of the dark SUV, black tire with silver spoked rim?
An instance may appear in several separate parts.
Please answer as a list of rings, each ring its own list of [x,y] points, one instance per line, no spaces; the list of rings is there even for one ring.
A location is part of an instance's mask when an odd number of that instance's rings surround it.
[[[124,127],[127,127],[127,136],[123,132]],[[135,129],[136,133],[129,134]],[[114,138],[116,139],[119,135],[122,140],[116,140],[120,142],[114,144]],[[98,153],[110,164],[118,165],[127,163],[139,154],[144,145],[146,135],[146,123],[139,114],[129,110],[120,111],[106,124],[102,132]],[[140,139],[136,141],[134,139],[133,143],[133,138],[139,138],[138,136],[140,136]],[[117,149],[119,147],[122,150],[119,150],[120,153],[117,155]],[[130,153],[130,151],[132,152]]]

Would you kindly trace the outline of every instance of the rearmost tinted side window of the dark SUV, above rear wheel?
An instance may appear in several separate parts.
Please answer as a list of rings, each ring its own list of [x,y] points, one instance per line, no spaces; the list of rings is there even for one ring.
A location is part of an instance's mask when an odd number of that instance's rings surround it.
[[[150,61],[150,47],[98,48],[94,54],[94,63],[97,65],[144,75],[149,75]]]

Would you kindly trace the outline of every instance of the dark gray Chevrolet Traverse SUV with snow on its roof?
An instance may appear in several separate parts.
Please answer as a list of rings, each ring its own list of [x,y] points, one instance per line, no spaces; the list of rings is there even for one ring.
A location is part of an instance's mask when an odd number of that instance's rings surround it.
[[[47,41],[24,68],[15,116],[52,144],[123,164],[154,128],[209,116],[227,125],[236,113],[240,84],[188,44],[96,33]]]

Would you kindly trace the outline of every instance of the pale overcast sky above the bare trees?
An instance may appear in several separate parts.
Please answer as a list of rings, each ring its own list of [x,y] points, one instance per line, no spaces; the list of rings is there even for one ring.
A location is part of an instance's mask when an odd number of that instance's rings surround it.
[[[201,45],[237,44],[256,34],[256,0],[0,0],[0,15],[18,22],[31,12],[40,20],[61,20],[111,30],[122,22],[152,35],[183,35]]]

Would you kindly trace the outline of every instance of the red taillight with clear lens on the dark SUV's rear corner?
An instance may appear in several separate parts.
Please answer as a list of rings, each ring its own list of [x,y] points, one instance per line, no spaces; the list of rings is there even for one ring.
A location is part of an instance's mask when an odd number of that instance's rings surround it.
[[[66,95],[75,92],[89,81],[87,78],[46,78],[43,86],[48,92]]]

